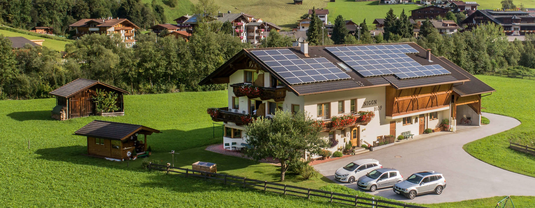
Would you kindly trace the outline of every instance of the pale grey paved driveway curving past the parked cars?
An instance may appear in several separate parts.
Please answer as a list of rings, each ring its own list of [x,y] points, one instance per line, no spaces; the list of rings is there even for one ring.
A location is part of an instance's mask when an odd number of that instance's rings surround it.
[[[535,178],[486,164],[462,149],[463,144],[520,125],[518,120],[503,115],[483,113],[483,116],[490,119],[491,124],[463,128],[457,130],[456,133],[396,144],[392,147],[334,160],[314,167],[333,181],[336,181],[333,176],[334,171],[339,167],[350,163],[350,161],[365,158],[375,158],[383,167],[398,169],[404,178],[419,171],[437,171],[444,174],[447,187],[441,195],[426,194],[410,200],[395,194],[391,188],[379,189],[371,193],[414,203],[457,202],[507,195],[535,196],[535,188],[533,188],[535,187]],[[401,158],[394,156],[401,156]],[[358,189],[356,183],[345,183],[345,185]]]

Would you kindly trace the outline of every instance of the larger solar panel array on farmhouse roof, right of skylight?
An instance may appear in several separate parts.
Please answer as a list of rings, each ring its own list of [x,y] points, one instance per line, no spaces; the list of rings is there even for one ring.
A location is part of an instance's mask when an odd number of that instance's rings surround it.
[[[405,53],[418,52],[408,44],[326,47],[325,49],[364,77],[394,74],[399,79],[406,79],[450,74],[438,64],[422,66],[407,56]]]

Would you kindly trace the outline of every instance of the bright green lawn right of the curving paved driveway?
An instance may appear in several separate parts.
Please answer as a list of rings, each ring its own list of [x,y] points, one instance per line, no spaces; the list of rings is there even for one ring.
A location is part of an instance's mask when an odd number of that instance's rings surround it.
[[[478,75],[479,79],[496,89],[490,96],[483,97],[484,112],[513,117],[522,124],[499,134],[488,136],[464,145],[470,155],[485,163],[508,171],[535,177],[535,157],[509,149],[509,140],[535,147],[535,81]],[[526,89],[526,90],[518,90]]]

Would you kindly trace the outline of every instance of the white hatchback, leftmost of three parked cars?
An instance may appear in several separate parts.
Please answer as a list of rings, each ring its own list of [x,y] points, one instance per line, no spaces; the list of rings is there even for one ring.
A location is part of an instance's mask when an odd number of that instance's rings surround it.
[[[342,182],[353,183],[358,178],[366,175],[366,173],[381,167],[383,165],[379,164],[379,161],[376,159],[355,160],[334,172],[334,178]]]

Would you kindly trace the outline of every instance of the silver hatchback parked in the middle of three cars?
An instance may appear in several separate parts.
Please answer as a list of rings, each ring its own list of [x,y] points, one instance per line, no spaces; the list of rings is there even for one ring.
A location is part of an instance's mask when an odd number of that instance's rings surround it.
[[[373,192],[380,188],[392,187],[400,181],[403,181],[403,176],[398,170],[394,168],[379,168],[359,178],[357,186]]]

